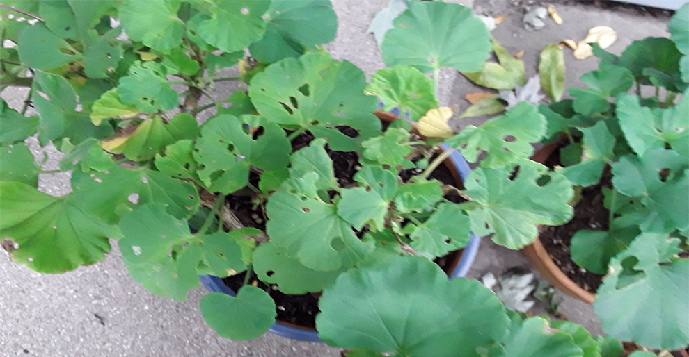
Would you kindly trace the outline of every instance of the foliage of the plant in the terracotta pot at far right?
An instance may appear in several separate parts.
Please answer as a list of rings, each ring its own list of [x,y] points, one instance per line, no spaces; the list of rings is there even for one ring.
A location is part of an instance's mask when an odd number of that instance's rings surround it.
[[[612,183],[602,188],[608,229],[571,242],[578,265],[608,274],[594,303],[603,331],[665,349],[689,343],[689,259],[678,256],[689,233],[688,17],[686,5],[670,39],[635,41],[619,57],[596,47],[599,70],[581,77],[588,88],[540,107],[548,138],[567,138],[558,171],[581,187]]]

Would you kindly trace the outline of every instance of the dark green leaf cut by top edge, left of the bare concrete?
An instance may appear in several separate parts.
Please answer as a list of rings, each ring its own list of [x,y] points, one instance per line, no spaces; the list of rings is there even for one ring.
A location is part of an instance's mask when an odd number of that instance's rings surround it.
[[[331,42],[338,28],[328,0],[273,0],[266,16],[263,37],[249,47],[251,56],[261,63],[299,57],[305,48]]]

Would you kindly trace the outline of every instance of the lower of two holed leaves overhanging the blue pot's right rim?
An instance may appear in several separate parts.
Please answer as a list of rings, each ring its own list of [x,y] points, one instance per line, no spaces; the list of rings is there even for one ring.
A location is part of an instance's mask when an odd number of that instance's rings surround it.
[[[493,241],[519,249],[537,237],[537,224],[552,226],[571,219],[573,209],[567,202],[573,190],[564,176],[529,160],[519,164],[511,180],[510,176],[508,169],[482,167],[464,181],[465,193],[477,204],[468,210],[474,233],[495,233]],[[548,182],[539,184],[544,176]]]

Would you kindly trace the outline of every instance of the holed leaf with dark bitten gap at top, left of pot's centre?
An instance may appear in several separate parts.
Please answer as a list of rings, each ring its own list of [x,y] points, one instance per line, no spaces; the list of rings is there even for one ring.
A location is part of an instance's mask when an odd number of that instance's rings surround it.
[[[193,156],[203,165],[196,173],[209,190],[229,194],[243,188],[251,166],[263,170],[287,166],[290,141],[285,132],[262,117],[259,122],[263,133],[256,140],[234,115],[220,115],[203,125]]]

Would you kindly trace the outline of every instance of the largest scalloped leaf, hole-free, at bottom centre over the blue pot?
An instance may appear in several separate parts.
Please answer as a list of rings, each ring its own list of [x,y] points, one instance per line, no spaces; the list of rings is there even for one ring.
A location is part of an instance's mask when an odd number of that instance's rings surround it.
[[[476,356],[507,330],[502,304],[430,260],[403,256],[380,270],[350,269],[319,300],[319,337],[333,347],[399,356]]]

